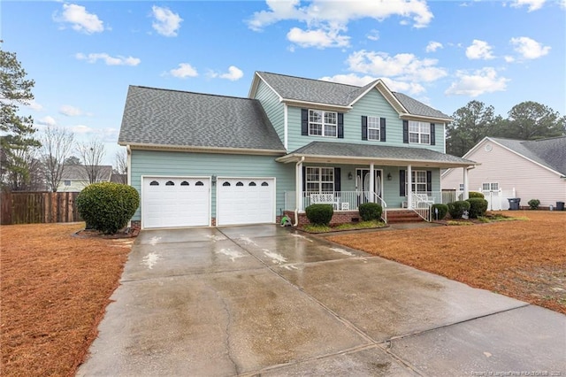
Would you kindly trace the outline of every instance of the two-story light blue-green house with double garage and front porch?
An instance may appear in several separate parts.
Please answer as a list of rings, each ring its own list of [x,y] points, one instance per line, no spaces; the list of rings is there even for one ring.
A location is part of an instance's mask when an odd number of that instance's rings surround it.
[[[257,72],[249,98],[131,86],[119,144],[142,197],[133,221],[274,223],[312,203],[348,220],[363,202],[440,202],[440,169],[475,165],[445,153],[450,120],[381,80],[356,87]]]

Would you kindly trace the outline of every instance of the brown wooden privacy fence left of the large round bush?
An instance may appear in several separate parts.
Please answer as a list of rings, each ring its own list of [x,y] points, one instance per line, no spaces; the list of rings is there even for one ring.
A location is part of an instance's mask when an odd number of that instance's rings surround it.
[[[34,224],[82,221],[77,211],[78,192],[3,192],[0,223]]]

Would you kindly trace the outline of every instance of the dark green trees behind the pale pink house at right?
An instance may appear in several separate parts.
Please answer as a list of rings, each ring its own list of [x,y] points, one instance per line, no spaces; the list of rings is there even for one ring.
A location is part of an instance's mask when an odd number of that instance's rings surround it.
[[[447,126],[447,153],[458,157],[486,136],[536,140],[566,135],[566,116],[532,101],[513,106],[507,118],[495,115],[493,106],[470,101],[452,118]]]

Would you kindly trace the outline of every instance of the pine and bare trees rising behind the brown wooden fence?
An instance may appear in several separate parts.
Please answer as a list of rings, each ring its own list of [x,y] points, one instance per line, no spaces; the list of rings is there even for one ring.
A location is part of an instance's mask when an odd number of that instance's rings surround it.
[[[2,41],[0,41],[1,43]],[[74,134],[47,126],[37,135],[34,119],[19,115],[19,106],[34,99],[34,81],[27,79],[16,54],[0,49],[0,185],[12,191],[57,191],[65,166],[81,165],[85,181],[101,180],[103,142],[75,142]],[[78,154],[79,157],[74,156]],[[115,157],[114,172],[126,173],[126,153]],[[124,182],[126,183],[126,182]]]

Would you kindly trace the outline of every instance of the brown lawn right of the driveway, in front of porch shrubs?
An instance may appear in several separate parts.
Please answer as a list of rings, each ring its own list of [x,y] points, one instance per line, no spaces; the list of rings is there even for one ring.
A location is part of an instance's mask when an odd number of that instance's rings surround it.
[[[501,213],[528,220],[329,239],[566,314],[566,212]]]

